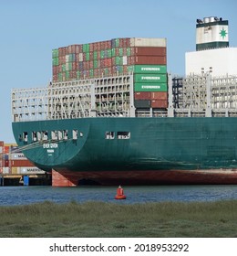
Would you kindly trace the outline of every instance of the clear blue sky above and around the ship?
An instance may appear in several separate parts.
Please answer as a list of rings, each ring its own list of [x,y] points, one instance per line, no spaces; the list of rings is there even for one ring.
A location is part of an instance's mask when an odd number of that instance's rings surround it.
[[[195,50],[196,19],[229,20],[237,47],[236,0],[0,0],[0,141],[14,143],[11,89],[46,86],[52,49],[115,37],[166,37],[168,71],[183,75]]]

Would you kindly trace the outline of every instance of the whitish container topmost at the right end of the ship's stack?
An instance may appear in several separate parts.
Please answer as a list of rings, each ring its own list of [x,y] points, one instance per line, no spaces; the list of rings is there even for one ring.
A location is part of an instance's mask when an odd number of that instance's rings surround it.
[[[131,47],[157,47],[166,48],[166,38],[130,38]]]

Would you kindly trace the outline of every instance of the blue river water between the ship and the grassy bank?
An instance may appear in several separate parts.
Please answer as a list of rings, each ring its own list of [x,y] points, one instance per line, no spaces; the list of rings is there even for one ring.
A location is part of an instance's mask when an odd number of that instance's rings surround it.
[[[26,205],[52,201],[114,202],[134,204],[161,201],[216,201],[237,199],[237,186],[152,186],[123,187],[126,200],[115,200],[117,187],[0,187],[0,206]]]

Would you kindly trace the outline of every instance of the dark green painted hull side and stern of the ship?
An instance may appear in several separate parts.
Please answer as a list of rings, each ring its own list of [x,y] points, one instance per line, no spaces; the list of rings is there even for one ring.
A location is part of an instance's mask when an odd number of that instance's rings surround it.
[[[67,131],[66,140],[52,139],[51,131],[58,130]],[[78,136],[73,138],[76,130]],[[80,178],[91,178],[89,173],[109,174],[112,180],[114,174],[119,180],[125,172],[130,181],[131,174],[142,174],[136,178],[146,183],[147,172],[152,173],[152,181],[159,183],[160,174],[165,172],[209,174],[214,170],[215,176],[220,170],[228,176],[237,168],[237,119],[234,117],[81,118],[13,123],[13,131],[16,143],[36,166],[71,176],[83,174]],[[47,140],[34,142],[31,134],[38,131],[46,131]],[[27,142],[19,139],[23,133],[27,133]],[[103,178],[106,176],[100,176],[100,180]],[[171,183],[175,183],[173,178],[170,176]],[[225,183],[224,178],[218,183]],[[228,183],[237,183],[234,178]],[[200,178],[197,180],[205,183]],[[189,179],[183,183],[189,183]]]

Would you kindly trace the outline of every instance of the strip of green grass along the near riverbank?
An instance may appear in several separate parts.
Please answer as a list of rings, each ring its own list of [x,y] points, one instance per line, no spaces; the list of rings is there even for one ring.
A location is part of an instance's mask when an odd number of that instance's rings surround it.
[[[237,237],[237,200],[0,207],[0,237]]]

